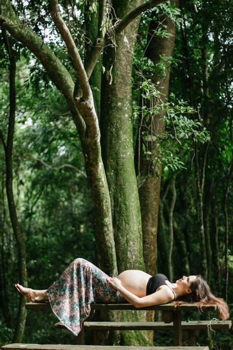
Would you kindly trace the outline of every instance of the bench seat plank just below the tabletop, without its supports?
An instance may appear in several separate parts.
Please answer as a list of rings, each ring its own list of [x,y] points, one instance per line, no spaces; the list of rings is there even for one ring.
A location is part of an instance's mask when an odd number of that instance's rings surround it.
[[[182,321],[182,330],[207,329],[210,324],[212,329],[230,329],[232,321]],[[171,330],[172,323],[164,322],[84,322],[86,330]],[[66,328],[61,322],[55,324],[56,328]]]

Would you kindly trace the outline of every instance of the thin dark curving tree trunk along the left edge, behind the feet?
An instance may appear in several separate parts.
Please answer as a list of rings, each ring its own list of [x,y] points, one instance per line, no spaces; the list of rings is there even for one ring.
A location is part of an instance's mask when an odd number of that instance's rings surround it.
[[[15,52],[12,49],[11,43],[6,35],[6,31],[2,29],[3,40],[7,53],[9,55],[10,67],[9,67],[9,122],[7,130],[6,144],[3,142],[5,150],[5,164],[6,164],[6,194],[8,201],[8,208],[10,214],[10,220],[13,228],[13,232],[16,238],[18,247],[18,262],[19,262],[19,281],[20,284],[27,286],[27,264],[26,264],[26,237],[20,228],[18,222],[14,193],[13,193],[13,164],[12,164],[12,153],[13,153],[13,140],[14,140],[14,127],[15,127],[15,109],[16,109],[16,90],[15,90],[15,72],[16,72],[16,60]],[[13,336],[14,343],[21,343],[25,322],[26,322],[26,309],[25,309],[25,297],[20,295],[20,301],[18,306],[18,315],[15,326],[15,332]]]

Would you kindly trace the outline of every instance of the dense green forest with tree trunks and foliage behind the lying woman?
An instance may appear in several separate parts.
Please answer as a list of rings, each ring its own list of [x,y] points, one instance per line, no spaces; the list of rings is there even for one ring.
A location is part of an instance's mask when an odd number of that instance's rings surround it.
[[[0,0],[1,344],[75,342],[14,283],[78,256],[202,274],[232,308],[232,31],[228,0]]]

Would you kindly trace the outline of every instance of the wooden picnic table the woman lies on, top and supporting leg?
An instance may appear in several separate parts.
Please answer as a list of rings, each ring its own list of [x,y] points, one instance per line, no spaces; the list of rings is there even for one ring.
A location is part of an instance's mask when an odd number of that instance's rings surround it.
[[[132,304],[90,304],[91,315],[95,310],[153,310],[162,311],[163,321],[165,323],[173,322],[174,346],[182,346],[182,329],[181,329],[181,312],[182,311],[198,311],[199,307],[196,303],[175,305],[174,303],[148,306],[144,308],[135,308]],[[216,305],[204,306],[203,311],[216,310]],[[27,303],[28,310],[49,310],[50,304],[47,303]],[[88,319],[90,318],[88,317]]]

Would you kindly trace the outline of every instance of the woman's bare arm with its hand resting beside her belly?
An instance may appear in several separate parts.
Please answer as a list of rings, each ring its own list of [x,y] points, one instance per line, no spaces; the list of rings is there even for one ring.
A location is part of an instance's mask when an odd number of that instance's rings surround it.
[[[159,304],[166,304],[173,300],[173,293],[170,294],[170,290],[167,290],[167,288],[160,289],[153,294],[146,295],[142,298],[139,298],[137,295],[131,293],[129,290],[127,290],[125,287],[121,285],[120,280],[116,277],[110,277],[109,280],[107,280],[115,289],[117,289],[120,294],[134,307],[136,308],[143,308],[146,306],[153,306],[153,305],[159,305]]]

